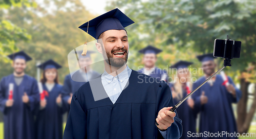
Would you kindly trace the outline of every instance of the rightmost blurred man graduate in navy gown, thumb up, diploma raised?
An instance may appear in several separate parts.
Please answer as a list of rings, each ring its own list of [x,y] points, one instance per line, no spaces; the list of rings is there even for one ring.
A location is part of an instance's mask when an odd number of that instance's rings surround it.
[[[212,54],[205,54],[197,57],[202,62],[204,76],[194,83],[196,88],[209,76],[215,73],[216,63]],[[207,134],[202,138],[211,138],[209,133],[237,133],[236,120],[232,110],[232,103],[237,103],[241,98],[241,91],[236,88],[232,79],[228,77],[229,85],[225,86],[225,81],[221,75],[212,77],[206,84],[193,94],[195,100],[195,110],[200,110],[199,132]],[[217,137],[218,138],[218,137]],[[222,138],[238,138],[224,135]]]

